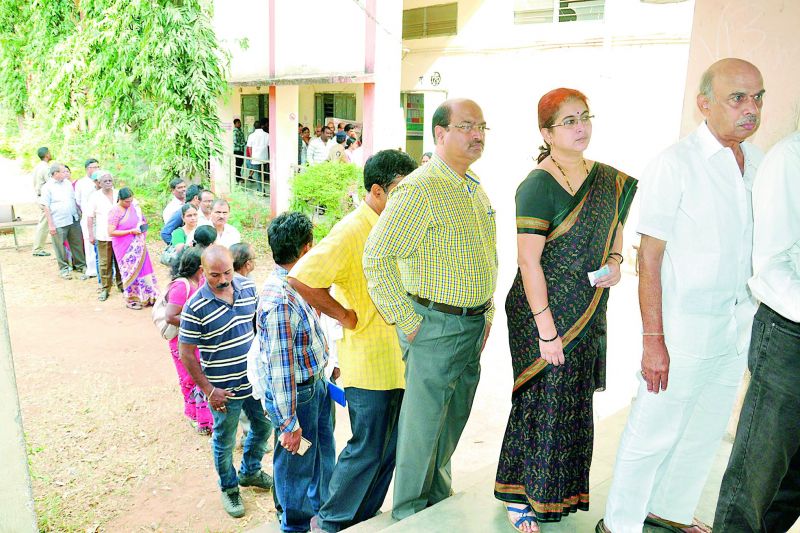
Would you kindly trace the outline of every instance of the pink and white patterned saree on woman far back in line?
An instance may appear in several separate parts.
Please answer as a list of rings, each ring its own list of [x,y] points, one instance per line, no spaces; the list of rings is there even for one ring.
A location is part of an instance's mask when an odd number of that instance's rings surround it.
[[[118,230],[129,230],[144,223],[138,204],[123,210],[115,206],[108,215],[109,223],[116,222]],[[150,254],[145,245],[145,234],[111,237],[114,257],[122,275],[122,290],[128,302],[142,306],[153,305],[158,298],[158,283]]]

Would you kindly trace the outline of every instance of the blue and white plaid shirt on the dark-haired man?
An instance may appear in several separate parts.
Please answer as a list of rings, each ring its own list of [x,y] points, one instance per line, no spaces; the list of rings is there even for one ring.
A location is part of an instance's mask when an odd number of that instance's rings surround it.
[[[261,353],[256,375],[273,398],[280,429],[291,432],[297,420],[297,383],[322,373],[328,345],[311,306],[286,281],[288,271],[275,265],[259,299],[256,316]]]

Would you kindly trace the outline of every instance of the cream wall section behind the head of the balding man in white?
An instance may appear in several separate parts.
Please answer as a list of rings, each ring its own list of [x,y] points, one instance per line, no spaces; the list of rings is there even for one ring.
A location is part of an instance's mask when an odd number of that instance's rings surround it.
[[[724,57],[746,59],[764,77],[762,123],[752,141],[768,149],[794,131],[800,119],[800,2],[697,0],[694,21],[681,131],[702,120],[695,104],[698,82]]]

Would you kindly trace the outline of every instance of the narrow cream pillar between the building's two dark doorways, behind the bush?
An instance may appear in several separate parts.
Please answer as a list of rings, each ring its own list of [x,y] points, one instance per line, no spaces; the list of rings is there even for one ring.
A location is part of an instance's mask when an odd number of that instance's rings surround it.
[[[297,117],[300,88],[269,88],[270,210],[276,216],[289,208],[289,182],[297,165]]]

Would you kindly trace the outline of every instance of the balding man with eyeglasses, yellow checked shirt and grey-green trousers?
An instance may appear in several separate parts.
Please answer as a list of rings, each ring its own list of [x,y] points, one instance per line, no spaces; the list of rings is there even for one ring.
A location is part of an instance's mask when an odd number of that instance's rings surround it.
[[[436,153],[397,185],[364,249],[370,296],[396,324],[406,362],[396,519],[451,494],[450,458],[478,386],[497,249],[494,210],[469,166],[486,130],[475,102],[442,103],[433,115]]]

